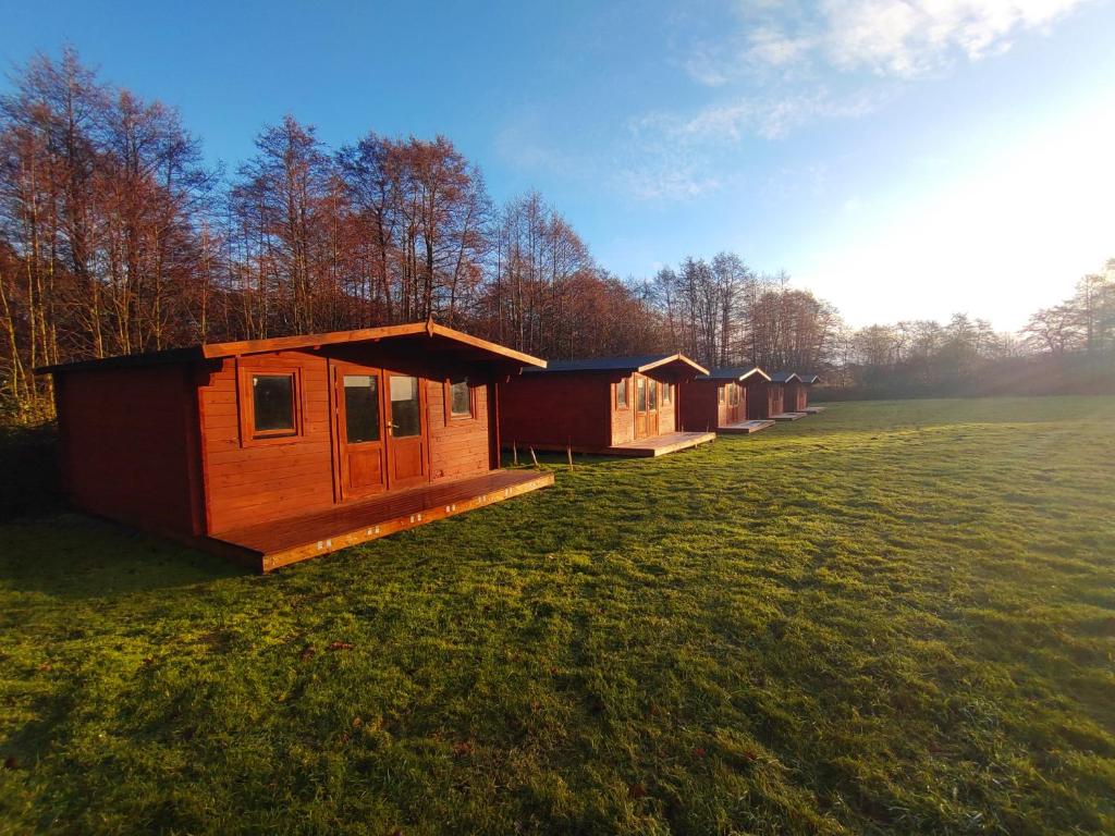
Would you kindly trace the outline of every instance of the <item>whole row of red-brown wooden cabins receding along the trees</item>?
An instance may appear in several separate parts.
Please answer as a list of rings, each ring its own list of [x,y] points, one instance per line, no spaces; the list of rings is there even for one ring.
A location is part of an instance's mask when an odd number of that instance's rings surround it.
[[[505,447],[662,455],[798,417],[816,382],[681,354],[546,363],[434,322],[38,371],[75,507],[263,572],[553,484]]]

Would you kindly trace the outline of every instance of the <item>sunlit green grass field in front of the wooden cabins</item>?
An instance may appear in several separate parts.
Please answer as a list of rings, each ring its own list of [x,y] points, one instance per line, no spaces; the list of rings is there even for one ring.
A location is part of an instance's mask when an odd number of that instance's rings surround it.
[[[547,466],[268,577],[0,526],[0,832],[1115,833],[1115,398]]]

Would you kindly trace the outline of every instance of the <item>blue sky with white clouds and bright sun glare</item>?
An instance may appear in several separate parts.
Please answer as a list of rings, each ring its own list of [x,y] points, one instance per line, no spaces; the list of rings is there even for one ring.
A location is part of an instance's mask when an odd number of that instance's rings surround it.
[[[0,61],[72,43],[213,161],[285,113],[449,136],[644,276],[734,250],[855,325],[1015,329],[1115,255],[1115,2],[4,0]]]

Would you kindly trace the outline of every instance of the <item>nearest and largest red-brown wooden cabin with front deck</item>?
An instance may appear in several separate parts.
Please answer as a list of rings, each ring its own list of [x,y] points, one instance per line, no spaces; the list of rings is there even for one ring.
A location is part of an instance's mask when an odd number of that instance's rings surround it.
[[[418,322],[40,371],[76,507],[266,572],[553,484],[500,468],[497,383],[524,366]]]

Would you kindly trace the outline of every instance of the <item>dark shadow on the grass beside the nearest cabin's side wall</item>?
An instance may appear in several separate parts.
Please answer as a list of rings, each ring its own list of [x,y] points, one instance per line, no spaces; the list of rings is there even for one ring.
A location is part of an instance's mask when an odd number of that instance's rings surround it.
[[[0,585],[62,600],[112,597],[250,572],[227,560],[75,513],[0,524]]]

